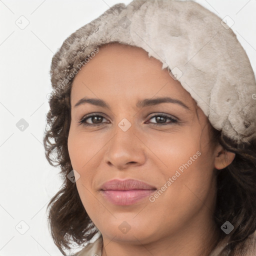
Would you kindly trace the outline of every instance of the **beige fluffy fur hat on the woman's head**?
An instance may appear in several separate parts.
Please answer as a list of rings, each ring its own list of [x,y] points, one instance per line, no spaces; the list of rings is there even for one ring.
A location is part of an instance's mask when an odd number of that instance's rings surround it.
[[[231,28],[193,1],[113,5],[55,53],[52,93],[63,95],[97,46],[113,41],[141,47],[161,61],[223,135],[236,143],[256,137],[256,83],[249,59]]]

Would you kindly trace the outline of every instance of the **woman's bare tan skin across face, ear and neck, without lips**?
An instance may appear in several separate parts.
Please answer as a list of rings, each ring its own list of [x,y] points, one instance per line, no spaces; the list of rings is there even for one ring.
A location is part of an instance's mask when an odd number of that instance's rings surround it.
[[[214,171],[230,164],[235,154],[210,142],[207,116],[161,66],[141,48],[111,43],[99,48],[72,84],[68,152],[80,175],[75,178],[82,204],[103,237],[102,256],[131,251],[133,256],[206,256],[220,232],[213,222]],[[136,107],[138,100],[166,95],[189,109],[167,102]],[[75,107],[84,96],[103,99],[110,108]],[[99,126],[79,123],[89,113],[104,117],[86,120]],[[159,113],[178,122],[166,118],[162,125],[152,117]],[[131,124],[126,131],[118,126],[123,118]],[[114,205],[99,191],[113,178],[139,179],[160,189],[197,151],[200,156],[153,202],[145,197]],[[130,225],[126,233],[118,228],[123,221]]]

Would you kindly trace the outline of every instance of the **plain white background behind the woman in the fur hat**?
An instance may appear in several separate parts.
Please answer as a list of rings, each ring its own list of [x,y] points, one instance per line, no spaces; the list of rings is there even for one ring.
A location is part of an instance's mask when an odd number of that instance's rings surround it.
[[[46,205],[61,185],[42,144],[51,58],[67,36],[118,2],[130,0],[0,0],[0,256],[62,255],[46,222]],[[256,0],[196,2],[234,20],[256,73]],[[29,21],[24,29],[15,23],[21,15]]]

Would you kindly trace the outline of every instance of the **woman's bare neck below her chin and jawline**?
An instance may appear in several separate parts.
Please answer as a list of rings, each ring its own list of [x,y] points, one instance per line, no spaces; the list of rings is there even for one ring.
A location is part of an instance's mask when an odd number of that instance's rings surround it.
[[[208,256],[218,242],[220,232],[215,226],[212,213],[205,214],[205,211],[209,213],[209,209],[203,207],[201,214],[197,214],[196,219],[183,223],[179,232],[159,237],[157,240],[138,240],[134,234],[134,240],[127,243],[103,235],[102,256],[126,256],[131,251],[132,256]],[[205,215],[209,218],[205,218]]]

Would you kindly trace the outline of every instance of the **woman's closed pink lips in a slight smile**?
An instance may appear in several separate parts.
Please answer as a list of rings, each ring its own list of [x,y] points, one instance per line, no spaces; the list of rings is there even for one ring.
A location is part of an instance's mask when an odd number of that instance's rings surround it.
[[[137,179],[111,179],[100,187],[100,192],[108,201],[116,205],[134,204],[156,190],[152,185]]]

